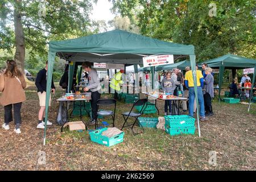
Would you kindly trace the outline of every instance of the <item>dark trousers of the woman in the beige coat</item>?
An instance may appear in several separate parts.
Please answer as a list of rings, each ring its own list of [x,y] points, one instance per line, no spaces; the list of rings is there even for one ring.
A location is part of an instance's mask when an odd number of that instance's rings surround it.
[[[14,122],[16,124],[21,124],[21,116],[20,116],[20,108],[22,106],[22,102],[17,104],[10,104],[5,106],[5,123],[9,125],[11,121],[13,121],[13,114],[11,110],[14,109]]]

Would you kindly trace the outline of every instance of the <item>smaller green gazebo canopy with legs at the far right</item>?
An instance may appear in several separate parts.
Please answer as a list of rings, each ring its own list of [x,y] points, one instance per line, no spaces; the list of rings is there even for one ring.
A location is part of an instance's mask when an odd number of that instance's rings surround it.
[[[223,75],[225,69],[245,69],[245,68],[254,68],[254,75],[253,75],[253,82],[255,83],[255,76],[256,76],[256,60],[254,59],[248,59],[246,57],[240,57],[232,54],[224,55],[221,57],[217,57],[216,59],[204,61],[202,63],[207,63],[208,67],[210,68],[219,68],[219,90],[218,90],[218,98],[220,102],[220,92],[221,92],[221,86],[223,82]],[[199,65],[201,67],[201,65]],[[253,90],[251,90],[251,94],[253,93]],[[250,100],[251,102],[251,100]],[[250,108],[250,107],[249,107]]]

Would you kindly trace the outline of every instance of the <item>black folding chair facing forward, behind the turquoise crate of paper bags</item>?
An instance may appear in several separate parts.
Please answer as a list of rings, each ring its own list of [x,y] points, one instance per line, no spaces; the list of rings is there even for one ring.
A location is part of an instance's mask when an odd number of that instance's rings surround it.
[[[106,117],[106,116],[110,116],[112,117],[113,119],[113,123],[110,123],[110,124],[113,124],[113,127],[115,126],[115,107],[114,107],[114,111],[112,110],[102,110],[102,111],[98,111],[98,108],[100,106],[110,106],[110,105],[117,105],[117,101],[114,100],[113,98],[110,98],[110,99],[99,99],[97,100],[96,102],[97,104],[97,115],[96,115],[96,122],[95,122],[95,129],[98,128],[98,115],[101,115],[102,117]]]

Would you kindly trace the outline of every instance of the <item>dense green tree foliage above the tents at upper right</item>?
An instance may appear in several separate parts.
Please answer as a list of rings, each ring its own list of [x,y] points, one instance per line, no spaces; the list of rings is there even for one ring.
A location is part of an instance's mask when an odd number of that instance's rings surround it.
[[[142,35],[193,44],[197,61],[227,53],[256,58],[255,1],[113,0],[113,11],[128,16]],[[216,3],[217,16],[208,7]]]

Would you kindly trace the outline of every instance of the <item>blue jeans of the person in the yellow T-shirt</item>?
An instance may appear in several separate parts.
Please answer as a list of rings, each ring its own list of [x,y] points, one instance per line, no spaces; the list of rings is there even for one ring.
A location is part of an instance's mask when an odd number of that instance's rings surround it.
[[[195,89],[193,87],[189,87],[188,90],[189,90],[189,93],[188,93],[188,97],[189,97],[188,110],[189,110],[189,115],[193,117],[193,115],[194,115],[194,101],[195,101],[195,97],[196,97]],[[197,97],[198,97],[198,102],[199,102],[199,106],[200,106],[200,117],[205,117],[204,96],[203,96],[203,90],[202,90],[201,86],[197,86]]]

